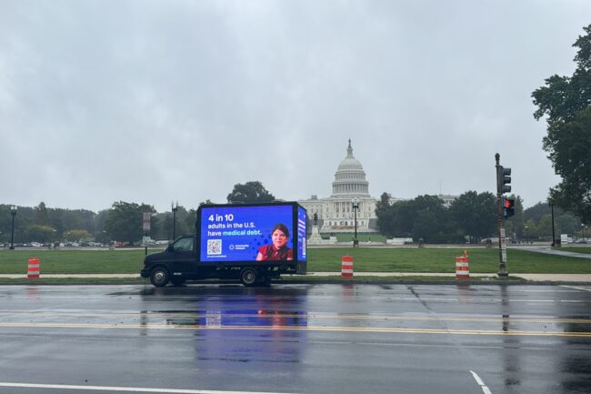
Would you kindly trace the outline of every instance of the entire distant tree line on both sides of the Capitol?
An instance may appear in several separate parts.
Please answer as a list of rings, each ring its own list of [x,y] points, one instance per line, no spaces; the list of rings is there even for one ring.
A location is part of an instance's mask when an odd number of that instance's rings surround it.
[[[551,239],[550,206],[538,203],[524,210],[516,198],[516,215],[506,220],[506,234],[516,241]],[[275,197],[261,182],[235,185],[227,202],[271,202]],[[200,203],[211,203],[210,200]],[[144,213],[150,213],[149,237],[173,238],[173,213],[156,212],[151,205],[118,201],[112,207],[95,213],[85,209],[49,208],[41,202],[36,207],[18,207],[15,220],[15,242],[54,243],[62,241],[137,243],[144,235]],[[196,208],[178,206],[175,235],[195,231]],[[376,205],[377,229],[386,237],[412,237],[426,243],[479,242],[496,237],[496,197],[489,192],[467,191],[449,207],[436,196],[418,196],[392,205],[389,195],[382,194]],[[308,220],[310,218],[308,217]],[[581,221],[572,213],[555,207],[556,237],[561,233],[580,237]],[[0,205],[0,243],[10,242],[12,217],[10,206]]]

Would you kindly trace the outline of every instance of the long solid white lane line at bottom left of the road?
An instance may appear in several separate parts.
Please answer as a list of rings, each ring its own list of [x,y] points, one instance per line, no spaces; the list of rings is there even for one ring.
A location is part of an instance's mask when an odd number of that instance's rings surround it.
[[[11,383],[0,382],[0,387],[27,388],[27,389],[80,389],[95,391],[128,391],[128,392],[156,392],[156,393],[175,393],[175,394],[287,394],[271,393],[263,391],[221,391],[206,389],[151,389],[141,387],[116,387],[116,386],[75,386],[65,384],[35,384],[35,383]]]

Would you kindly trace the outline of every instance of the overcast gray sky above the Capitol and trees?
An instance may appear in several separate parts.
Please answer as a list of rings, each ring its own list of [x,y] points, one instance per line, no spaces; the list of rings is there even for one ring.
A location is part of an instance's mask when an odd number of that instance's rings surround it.
[[[495,192],[499,152],[530,207],[559,181],[531,93],[589,23],[588,0],[0,0],[0,203],[328,197],[351,138],[374,197]]]

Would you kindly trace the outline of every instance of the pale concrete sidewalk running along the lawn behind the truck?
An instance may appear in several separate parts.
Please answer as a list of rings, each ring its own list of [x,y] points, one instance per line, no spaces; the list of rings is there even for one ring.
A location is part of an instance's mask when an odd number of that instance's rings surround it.
[[[285,277],[303,278],[301,275],[284,275]],[[340,277],[340,272],[308,272],[307,277]],[[509,273],[513,278],[524,278],[533,282],[586,282],[591,284],[591,274],[519,274]],[[404,277],[446,277],[456,278],[454,273],[434,272],[355,272],[354,278],[380,277],[380,278],[404,278]],[[472,278],[497,278],[496,274],[470,273]],[[0,278],[22,279],[26,274],[4,274]],[[41,274],[41,278],[140,278],[139,274]]]

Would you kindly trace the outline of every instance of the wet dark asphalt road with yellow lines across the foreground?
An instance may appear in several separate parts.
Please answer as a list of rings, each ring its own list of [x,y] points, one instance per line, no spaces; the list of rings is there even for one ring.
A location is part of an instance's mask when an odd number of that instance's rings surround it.
[[[0,296],[0,393],[591,392],[588,286],[5,286]]]

